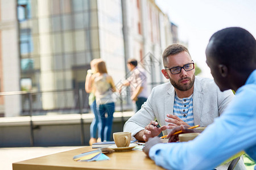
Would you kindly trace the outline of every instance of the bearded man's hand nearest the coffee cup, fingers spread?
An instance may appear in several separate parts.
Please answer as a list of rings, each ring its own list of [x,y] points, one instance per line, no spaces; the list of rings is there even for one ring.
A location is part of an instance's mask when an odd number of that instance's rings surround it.
[[[169,129],[169,127],[166,125],[160,128],[156,127],[157,125],[158,125],[158,122],[150,121],[150,124],[148,124],[145,127],[144,134],[143,134],[144,141],[147,141],[149,138],[158,136],[163,130]]]

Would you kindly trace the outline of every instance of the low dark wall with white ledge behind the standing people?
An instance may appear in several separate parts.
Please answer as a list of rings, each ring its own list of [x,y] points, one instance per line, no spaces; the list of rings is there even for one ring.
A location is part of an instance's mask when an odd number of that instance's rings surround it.
[[[125,113],[127,121],[133,112]],[[81,124],[80,114],[61,115],[61,119],[49,116],[34,116],[34,146],[80,146]],[[47,118],[48,117],[48,118]],[[66,118],[63,118],[66,117]],[[19,118],[19,121],[11,121],[9,118],[0,119],[0,147],[27,147],[30,143],[30,117]],[[33,120],[32,118],[32,120]],[[89,145],[90,122],[92,114],[84,114],[84,145]],[[123,131],[121,114],[114,114],[112,133]],[[113,137],[111,137],[113,141]]]

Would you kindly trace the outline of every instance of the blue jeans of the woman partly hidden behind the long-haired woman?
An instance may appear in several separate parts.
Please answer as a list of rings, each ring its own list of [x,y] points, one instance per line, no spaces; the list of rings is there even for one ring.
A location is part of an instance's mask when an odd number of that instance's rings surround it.
[[[92,123],[90,124],[90,137],[91,138],[96,138],[96,133],[97,129],[99,126],[99,113],[97,111],[97,105],[96,105],[96,100],[93,101],[93,103],[90,105],[90,111],[94,114],[94,118]],[[98,138],[100,138],[101,135],[98,132]]]

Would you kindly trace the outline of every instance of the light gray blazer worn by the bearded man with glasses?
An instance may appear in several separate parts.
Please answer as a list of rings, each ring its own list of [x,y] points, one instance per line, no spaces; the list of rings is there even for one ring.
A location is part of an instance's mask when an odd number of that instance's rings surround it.
[[[208,126],[214,118],[220,116],[226,105],[232,100],[231,90],[221,92],[212,79],[196,76],[193,91],[193,114],[195,125]],[[151,120],[157,120],[162,125],[166,115],[173,114],[175,90],[170,82],[161,84],[152,89],[142,108],[125,123],[123,131],[130,131],[134,136],[143,130]],[[167,135],[170,130],[164,130]]]

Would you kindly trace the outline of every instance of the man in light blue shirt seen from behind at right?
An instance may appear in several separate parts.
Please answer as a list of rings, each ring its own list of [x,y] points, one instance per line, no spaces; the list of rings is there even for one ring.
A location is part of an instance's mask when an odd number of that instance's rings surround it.
[[[220,90],[233,89],[236,96],[193,141],[163,144],[158,137],[148,139],[143,151],[166,169],[214,169],[242,150],[256,160],[255,38],[242,28],[222,29],[210,38],[206,56]]]

